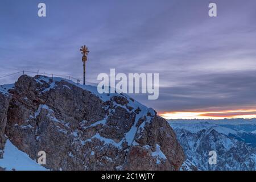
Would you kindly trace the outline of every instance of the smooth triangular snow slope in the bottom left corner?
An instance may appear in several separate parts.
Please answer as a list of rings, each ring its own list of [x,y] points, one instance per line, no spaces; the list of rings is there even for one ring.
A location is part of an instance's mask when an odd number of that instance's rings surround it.
[[[32,160],[26,153],[18,150],[10,140],[6,141],[5,153],[3,159],[0,159],[0,167],[7,171],[15,169],[16,171],[47,171],[48,169],[40,166],[35,160]]]

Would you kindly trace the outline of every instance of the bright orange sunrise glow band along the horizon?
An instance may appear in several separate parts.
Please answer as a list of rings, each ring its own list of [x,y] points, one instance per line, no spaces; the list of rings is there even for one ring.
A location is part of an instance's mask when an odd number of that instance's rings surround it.
[[[229,110],[229,111],[175,111],[160,114],[165,119],[234,119],[256,118],[256,110]]]

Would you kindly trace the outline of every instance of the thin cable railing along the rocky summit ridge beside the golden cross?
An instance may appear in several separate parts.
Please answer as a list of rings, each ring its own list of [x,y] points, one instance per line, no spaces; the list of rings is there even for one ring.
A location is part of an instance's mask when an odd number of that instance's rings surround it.
[[[58,75],[58,74],[54,74],[54,73],[46,73],[46,72],[39,72],[39,70],[37,72],[32,72],[32,71],[20,71],[20,72],[15,72],[15,73],[10,73],[9,75],[5,75],[5,76],[0,76],[1,78],[6,78],[6,77],[11,77],[11,76],[15,76],[15,75],[32,75],[32,76],[36,76],[36,75],[40,75],[40,76],[47,76],[47,77],[61,77],[61,78],[65,78],[66,80],[69,81],[73,81],[73,82],[77,82],[77,84],[80,84],[80,81],[82,80],[81,78],[75,78],[72,76],[67,76],[67,75]],[[86,84],[91,84],[91,85],[96,85],[97,83],[93,83],[93,82],[85,82]]]

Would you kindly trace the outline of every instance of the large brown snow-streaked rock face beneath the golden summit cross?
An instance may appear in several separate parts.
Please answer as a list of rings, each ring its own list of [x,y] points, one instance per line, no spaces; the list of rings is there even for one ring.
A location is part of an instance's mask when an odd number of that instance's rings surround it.
[[[0,92],[0,147],[6,135],[31,159],[45,151],[48,169],[178,170],[183,164],[170,125],[129,96],[43,76],[20,77],[8,94]]]

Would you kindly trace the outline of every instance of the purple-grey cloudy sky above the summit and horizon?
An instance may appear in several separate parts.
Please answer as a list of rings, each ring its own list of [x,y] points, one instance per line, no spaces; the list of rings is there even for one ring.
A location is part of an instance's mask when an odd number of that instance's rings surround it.
[[[46,18],[38,17],[40,2]],[[217,4],[215,18],[210,2]],[[86,44],[90,82],[110,68],[159,73],[158,100],[133,97],[167,118],[251,117],[255,9],[255,0],[1,0],[0,76],[39,69],[81,78],[79,48]]]

